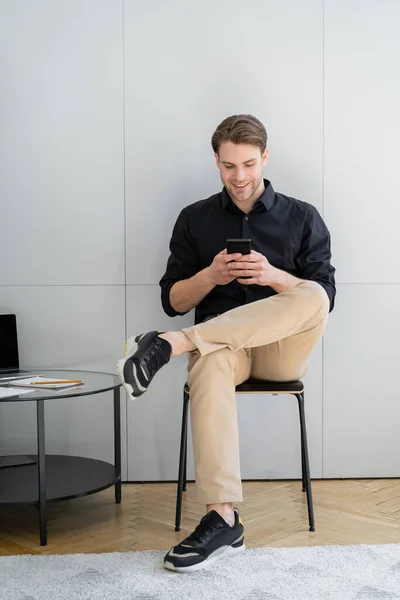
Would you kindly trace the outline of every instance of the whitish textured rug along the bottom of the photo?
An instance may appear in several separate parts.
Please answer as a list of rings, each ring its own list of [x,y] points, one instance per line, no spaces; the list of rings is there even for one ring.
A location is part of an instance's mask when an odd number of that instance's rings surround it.
[[[400,599],[400,545],[246,550],[174,573],[164,552],[0,557],[3,600]]]

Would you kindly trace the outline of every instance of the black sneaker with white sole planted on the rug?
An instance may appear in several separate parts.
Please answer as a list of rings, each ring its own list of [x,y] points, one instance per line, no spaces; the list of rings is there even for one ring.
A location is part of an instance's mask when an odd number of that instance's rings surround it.
[[[216,560],[234,556],[246,549],[243,523],[235,509],[235,524],[228,523],[215,511],[207,513],[194,532],[164,558],[164,567],[186,573],[205,569]]]

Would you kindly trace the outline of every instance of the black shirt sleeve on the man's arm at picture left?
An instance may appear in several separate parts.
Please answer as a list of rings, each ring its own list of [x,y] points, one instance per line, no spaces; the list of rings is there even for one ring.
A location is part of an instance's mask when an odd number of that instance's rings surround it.
[[[186,312],[177,312],[169,299],[171,288],[177,281],[189,279],[199,271],[199,261],[193,241],[190,235],[187,209],[180,213],[169,244],[170,256],[167,262],[167,268],[160,279],[161,286],[161,304],[164,312],[169,317],[184,315]]]

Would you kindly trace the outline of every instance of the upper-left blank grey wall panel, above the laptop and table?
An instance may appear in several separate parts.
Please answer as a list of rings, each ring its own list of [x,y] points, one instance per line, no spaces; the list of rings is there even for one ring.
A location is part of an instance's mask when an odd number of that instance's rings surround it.
[[[0,284],[124,283],[122,0],[0,6]]]

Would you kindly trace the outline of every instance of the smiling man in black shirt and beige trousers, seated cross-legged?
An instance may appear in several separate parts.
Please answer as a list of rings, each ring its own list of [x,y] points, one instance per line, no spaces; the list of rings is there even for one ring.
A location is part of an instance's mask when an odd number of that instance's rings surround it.
[[[196,324],[129,338],[117,366],[133,399],[171,358],[189,353],[196,487],[207,512],[166,555],[164,565],[176,571],[244,550],[233,508],[243,499],[235,386],[250,376],[302,378],[335,298],[330,235],[318,211],[263,179],[262,123],[251,115],[228,117],[212,147],[224,188],[182,210],[160,281],[165,312],[196,308]],[[251,254],[227,254],[229,238],[251,238]]]

